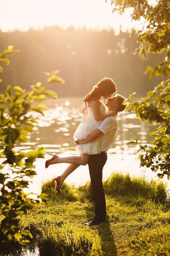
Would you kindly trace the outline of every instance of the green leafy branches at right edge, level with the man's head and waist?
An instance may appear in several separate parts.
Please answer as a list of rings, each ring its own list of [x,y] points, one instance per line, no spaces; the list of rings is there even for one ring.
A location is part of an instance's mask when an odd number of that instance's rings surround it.
[[[162,81],[146,97],[127,102],[126,110],[135,111],[142,121],[161,124],[156,131],[150,132],[155,137],[152,147],[139,145],[141,166],[151,166],[153,172],[161,171],[159,177],[167,175],[170,179],[170,80]]]

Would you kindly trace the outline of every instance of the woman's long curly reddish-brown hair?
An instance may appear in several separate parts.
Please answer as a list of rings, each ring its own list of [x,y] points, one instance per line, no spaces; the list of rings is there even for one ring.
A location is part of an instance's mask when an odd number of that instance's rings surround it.
[[[88,106],[88,102],[90,102],[92,99],[97,100],[101,97],[107,99],[113,93],[116,93],[116,84],[113,82],[111,78],[105,77],[96,85],[94,85],[90,93],[88,93],[82,101],[85,106]]]

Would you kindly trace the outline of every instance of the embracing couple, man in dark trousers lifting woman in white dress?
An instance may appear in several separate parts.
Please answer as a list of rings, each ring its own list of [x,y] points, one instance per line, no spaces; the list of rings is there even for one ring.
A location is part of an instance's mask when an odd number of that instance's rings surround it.
[[[45,162],[45,168],[51,164],[70,163],[63,174],[52,181],[56,181],[56,190],[60,194],[65,178],[78,166],[88,163],[95,204],[95,217],[85,223],[89,226],[101,224],[106,218],[102,169],[107,161],[107,151],[116,139],[117,114],[125,110],[125,105],[122,105],[125,98],[119,94],[111,98],[113,93],[116,93],[116,84],[112,79],[104,78],[84,97],[82,122],[74,132],[74,142],[79,156],[58,157],[54,155]],[[108,99],[106,105],[102,101],[105,99]]]

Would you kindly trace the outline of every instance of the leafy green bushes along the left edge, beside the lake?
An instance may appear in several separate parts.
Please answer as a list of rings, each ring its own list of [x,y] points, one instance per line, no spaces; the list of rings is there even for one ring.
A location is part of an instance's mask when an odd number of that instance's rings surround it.
[[[2,54],[0,61],[9,64],[7,55],[18,52],[8,46]],[[2,72],[3,68],[0,66]],[[32,238],[29,229],[20,228],[20,219],[23,214],[39,200],[28,197],[24,192],[28,182],[35,172],[34,161],[44,157],[44,148],[27,153],[17,152],[16,143],[27,143],[27,134],[34,129],[37,120],[31,115],[32,111],[43,114],[45,105],[42,100],[50,96],[57,98],[56,93],[45,90],[40,82],[31,86],[31,91],[23,90],[19,86],[6,88],[5,94],[0,94],[0,208],[4,216],[0,226],[0,241],[18,241],[25,245]],[[45,195],[39,195],[42,200]]]

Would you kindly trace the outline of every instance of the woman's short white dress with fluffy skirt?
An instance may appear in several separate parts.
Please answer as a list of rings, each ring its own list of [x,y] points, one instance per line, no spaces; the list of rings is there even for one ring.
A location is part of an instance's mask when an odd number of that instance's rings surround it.
[[[99,106],[99,113],[104,114],[106,111],[105,105],[101,102]],[[94,119],[93,111],[88,107],[88,117],[83,116],[82,122],[77,127],[77,130],[74,132],[74,140],[86,139],[86,137],[94,132],[100,125],[102,121],[96,121]],[[79,154],[99,154],[100,153],[100,140],[96,139],[88,144],[77,145],[76,150]]]

